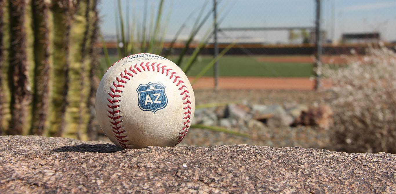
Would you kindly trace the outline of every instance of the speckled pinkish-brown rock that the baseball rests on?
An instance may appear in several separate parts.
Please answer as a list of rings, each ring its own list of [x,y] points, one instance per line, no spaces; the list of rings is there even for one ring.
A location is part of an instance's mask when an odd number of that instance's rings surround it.
[[[395,193],[396,155],[0,136],[0,193]]]

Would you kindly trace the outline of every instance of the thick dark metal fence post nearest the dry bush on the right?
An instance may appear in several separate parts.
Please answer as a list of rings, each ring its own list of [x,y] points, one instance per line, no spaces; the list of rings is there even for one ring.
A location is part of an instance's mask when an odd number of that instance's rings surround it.
[[[321,37],[320,37],[320,0],[316,0],[316,21],[315,21],[315,26],[316,26],[316,33],[315,33],[315,39],[316,39],[316,62],[314,65],[314,70],[315,70],[315,90],[318,90],[320,88],[320,74],[319,74],[319,66],[320,66],[320,55],[322,55],[322,43],[321,43]]]

